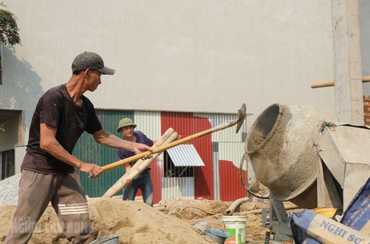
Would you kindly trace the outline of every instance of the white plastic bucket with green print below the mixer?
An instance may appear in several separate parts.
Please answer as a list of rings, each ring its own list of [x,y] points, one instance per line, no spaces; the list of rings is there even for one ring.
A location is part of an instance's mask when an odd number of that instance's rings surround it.
[[[223,216],[221,218],[223,232],[227,234],[225,244],[244,244],[247,217],[245,216]]]

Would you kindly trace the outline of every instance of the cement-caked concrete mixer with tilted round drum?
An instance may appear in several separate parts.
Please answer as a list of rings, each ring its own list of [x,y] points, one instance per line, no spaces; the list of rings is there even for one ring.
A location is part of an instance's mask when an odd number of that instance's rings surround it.
[[[256,180],[270,190],[269,209],[262,210],[265,243],[293,242],[285,201],[299,208],[337,208],[341,214],[369,178],[369,148],[369,127],[339,123],[334,114],[312,106],[266,108],[245,141]]]

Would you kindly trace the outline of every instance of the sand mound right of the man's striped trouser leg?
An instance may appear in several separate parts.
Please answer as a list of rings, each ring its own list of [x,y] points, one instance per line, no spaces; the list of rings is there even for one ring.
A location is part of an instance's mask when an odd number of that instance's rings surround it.
[[[213,243],[193,225],[142,202],[100,199],[89,212],[95,232],[119,234],[120,243]]]

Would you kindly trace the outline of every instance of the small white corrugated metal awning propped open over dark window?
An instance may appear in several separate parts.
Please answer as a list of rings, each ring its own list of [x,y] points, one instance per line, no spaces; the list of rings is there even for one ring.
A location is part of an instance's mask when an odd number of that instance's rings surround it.
[[[178,145],[167,150],[175,167],[205,166],[194,145]]]

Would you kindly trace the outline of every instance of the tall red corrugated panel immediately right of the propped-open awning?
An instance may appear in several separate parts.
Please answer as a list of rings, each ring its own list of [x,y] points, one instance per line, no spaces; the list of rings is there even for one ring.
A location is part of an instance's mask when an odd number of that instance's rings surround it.
[[[194,133],[202,132],[211,128],[210,121],[204,117],[194,117]],[[213,176],[212,176],[212,136],[208,134],[197,138],[194,146],[206,167],[195,167],[195,199],[213,199]]]

